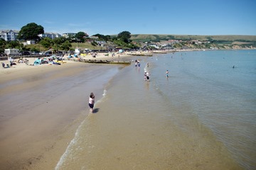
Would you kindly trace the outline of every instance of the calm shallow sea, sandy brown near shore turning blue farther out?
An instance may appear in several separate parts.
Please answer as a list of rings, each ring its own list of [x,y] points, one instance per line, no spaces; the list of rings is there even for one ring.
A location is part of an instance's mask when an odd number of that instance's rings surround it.
[[[130,60],[106,73],[56,170],[256,169],[256,50]]]

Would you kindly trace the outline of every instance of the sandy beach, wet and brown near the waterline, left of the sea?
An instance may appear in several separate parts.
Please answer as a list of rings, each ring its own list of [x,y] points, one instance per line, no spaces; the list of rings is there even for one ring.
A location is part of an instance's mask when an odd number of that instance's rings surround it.
[[[125,57],[129,55],[108,57],[99,54],[85,58],[125,60]],[[31,66],[36,59],[27,60],[28,64],[15,60],[13,67],[0,69],[0,169],[54,169],[89,111],[87,96],[73,97],[72,94],[79,94],[81,89],[72,84],[74,88],[63,85],[62,79],[80,72],[88,72],[87,77],[99,70],[99,74],[104,74],[106,69],[113,67],[111,64],[74,62],[67,57],[60,65]],[[7,60],[1,62],[9,63]],[[114,67],[121,67],[117,65]],[[50,91],[51,86],[41,87],[44,84],[59,87]],[[97,85],[93,84],[95,82],[90,82],[90,90],[97,90]],[[71,111],[71,108],[78,110]]]

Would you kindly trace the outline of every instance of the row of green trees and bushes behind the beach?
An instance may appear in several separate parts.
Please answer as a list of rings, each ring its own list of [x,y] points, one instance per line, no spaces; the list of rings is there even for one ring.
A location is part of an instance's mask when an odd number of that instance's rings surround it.
[[[85,42],[90,39],[89,35],[84,32],[78,32],[74,36],[69,36],[68,38],[60,37],[60,38],[41,38],[38,35],[44,33],[43,26],[37,25],[36,23],[28,23],[26,26],[23,26],[18,33],[18,41],[8,41],[1,39],[0,40],[0,52],[4,52],[5,48],[18,48],[20,50],[31,50],[38,51],[38,49],[28,49],[28,47],[21,44],[21,41],[26,40],[35,40],[36,43],[42,45],[45,48],[53,48],[55,50],[70,50],[72,47],[71,42]],[[105,42],[110,41],[114,42],[117,46],[127,47],[127,48],[137,48],[137,45],[133,45],[130,40],[131,33],[129,31],[123,31],[119,33],[117,36],[110,35],[101,35],[95,34],[92,35],[98,38],[98,40],[104,40]],[[90,40],[92,45],[97,45],[95,40]]]

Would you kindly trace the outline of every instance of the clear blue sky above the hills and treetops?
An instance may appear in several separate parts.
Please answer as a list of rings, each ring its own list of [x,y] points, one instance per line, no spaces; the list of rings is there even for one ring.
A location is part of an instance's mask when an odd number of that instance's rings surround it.
[[[45,32],[256,35],[255,0],[8,0],[0,30],[28,23]]]

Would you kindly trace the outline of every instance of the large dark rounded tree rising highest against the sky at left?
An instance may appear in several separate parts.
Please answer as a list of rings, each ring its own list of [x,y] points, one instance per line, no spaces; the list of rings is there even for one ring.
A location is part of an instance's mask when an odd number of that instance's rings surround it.
[[[43,33],[44,30],[42,26],[38,26],[36,23],[28,23],[21,28],[18,33],[18,39],[38,41],[40,39],[38,35]]]

